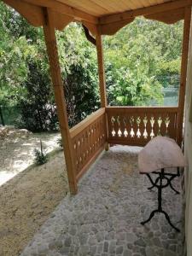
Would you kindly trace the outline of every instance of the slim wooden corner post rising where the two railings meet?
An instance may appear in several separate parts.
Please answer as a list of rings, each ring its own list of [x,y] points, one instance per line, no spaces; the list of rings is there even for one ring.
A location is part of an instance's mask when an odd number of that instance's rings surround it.
[[[98,61],[99,87],[101,96],[101,107],[107,107],[106,84],[105,84],[105,67],[103,61],[102,36],[96,35],[96,52]]]

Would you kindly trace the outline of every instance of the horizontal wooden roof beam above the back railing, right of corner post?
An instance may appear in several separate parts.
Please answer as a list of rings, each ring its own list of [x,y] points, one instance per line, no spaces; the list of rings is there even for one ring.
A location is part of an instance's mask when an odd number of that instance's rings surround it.
[[[191,4],[192,0],[177,0],[168,3],[160,3],[158,5],[149,6],[142,9],[129,10],[119,14],[104,15],[99,19],[99,24],[108,24],[122,20],[129,20],[140,15],[152,15],[162,13],[170,11],[172,9],[179,9],[186,6],[191,6]]]

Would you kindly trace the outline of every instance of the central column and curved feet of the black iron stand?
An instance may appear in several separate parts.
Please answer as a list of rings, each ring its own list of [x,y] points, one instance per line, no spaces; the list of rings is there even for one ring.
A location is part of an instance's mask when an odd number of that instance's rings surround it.
[[[154,217],[154,214],[157,212],[163,213],[166,217],[166,220],[168,221],[168,223],[172,226],[173,229],[177,230],[177,232],[180,232],[180,230],[178,230],[171,222],[169,215],[162,209],[162,189],[166,188],[168,185],[170,185],[169,181],[170,179],[165,177],[165,172],[164,172],[164,168],[161,169],[161,172],[158,172],[159,177],[156,178],[155,182],[153,182],[154,187],[156,187],[158,189],[158,209],[154,210],[153,212],[151,212],[149,218],[143,222],[141,222],[141,224],[146,224],[148,223],[151,218]],[[166,178],[167,183],[165,185],[163,185],[163,179]],[[151,177],[149,178],[151,179]],[[158,181],[157,181],[158,179]],[[158,185],[157,183],[160,181],[160,184]]]

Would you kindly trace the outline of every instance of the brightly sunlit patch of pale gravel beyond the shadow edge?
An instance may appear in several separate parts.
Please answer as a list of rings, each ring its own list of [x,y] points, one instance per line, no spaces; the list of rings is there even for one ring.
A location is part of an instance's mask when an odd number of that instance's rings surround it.
[[[33,150],[40,147],[42,140],[46,152],[58,147],[56,140],[60,134],[42,132],[28,133],[10,129],[5,138],[0,137],[0,186],[32,165]],[[1,132],[0,132],[1,134]]]

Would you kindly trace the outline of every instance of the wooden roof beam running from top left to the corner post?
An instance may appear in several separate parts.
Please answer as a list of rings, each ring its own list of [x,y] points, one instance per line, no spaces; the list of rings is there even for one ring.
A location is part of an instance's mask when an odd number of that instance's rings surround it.
[[[26,3],[35,4],[37,6],[50,8],[55,12],[58,12],[64,15],[72,16],[76,21],[86,20],[93,24],[98,23],[98,19],[96,18],[96,16],[87,14],[84,11],[75,9],[71,6],[68,6],[65,3],[60,3],[55,0],[23,0],[23,1]]]

